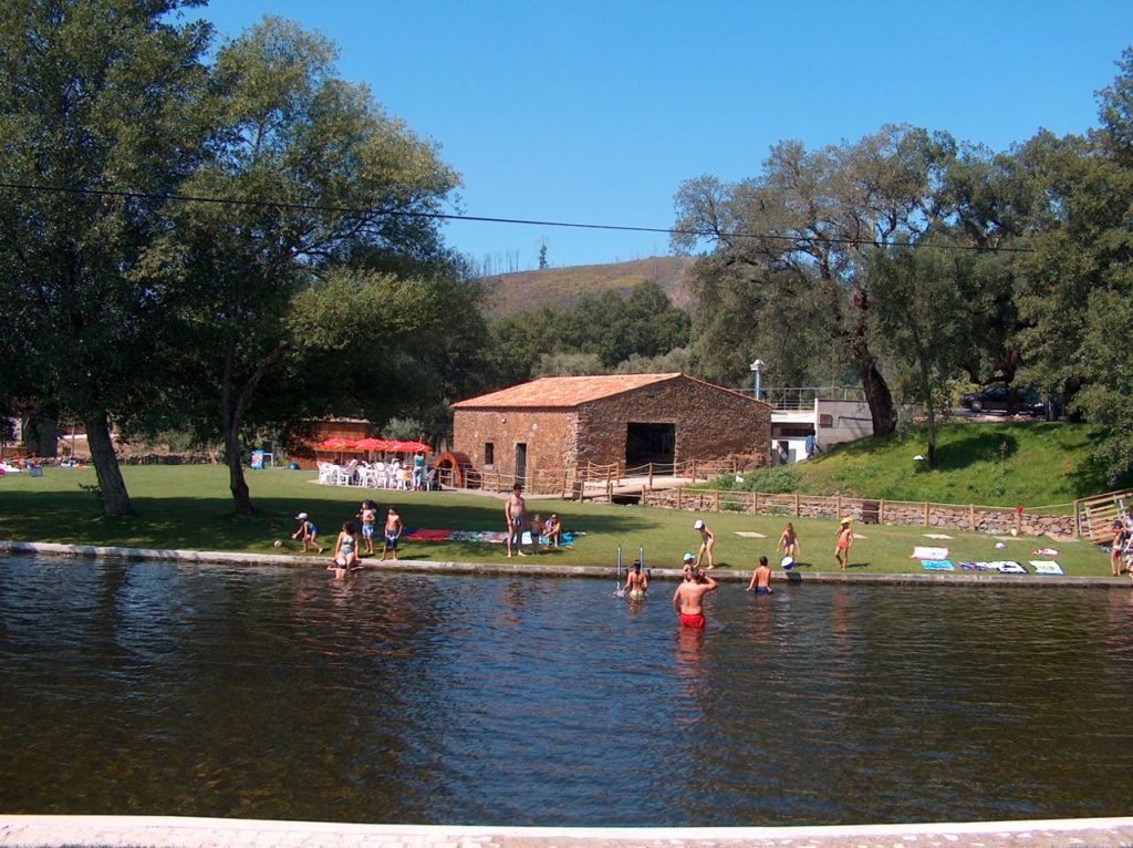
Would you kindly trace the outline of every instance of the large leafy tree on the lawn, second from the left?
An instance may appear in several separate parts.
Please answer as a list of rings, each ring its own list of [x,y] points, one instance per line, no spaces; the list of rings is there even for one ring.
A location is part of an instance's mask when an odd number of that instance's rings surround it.
[[[238,514],[252,511],[241,464],[249,425],[280,414],[265,387],[290,370],[300,376],[291,392],[316,391],[309,381],[325,375],[330,351],[342,372],[382,378],[369,388],[397,397],[421,374],[409,345],[438,312],[437,292],[418,283],[402,291],[368,279],[367,288],[363,277],[323,288],[357,245],[419,266],[440,245],[432,215],[458,185],[435,145],[339,78],[334,59],[329,41],[272,17],[218,52],[199,107],[214,128],[208,156],[181,188],[196,200],[173,209],[144,269],[177,315],[180,399],[212,410]],[[340,397],[353,405],[349,382]]]

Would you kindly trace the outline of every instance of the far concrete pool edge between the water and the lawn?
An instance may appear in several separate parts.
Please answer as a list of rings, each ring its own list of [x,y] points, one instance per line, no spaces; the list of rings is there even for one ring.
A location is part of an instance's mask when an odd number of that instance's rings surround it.
[[[0,556],[36,554],[49,557],[93,557],[161,562],[204,562],[214,565],[275,565],[326,566],[329,558],[303,557],[280,553],[236,553],[228,551],[182,551],[153,548],[108,548],[100,545],[61,544],[56,542],[17,542],[0,540]],[[366,562],[367,571],[435,571],[448,574],[510,574],[539,577],[603,577],[612,576],[610,566],[536,565],[530,557],[522,563],[512,562],[441,562],[403,559],[397,562]],[[659,577],[675,578],[679,568],[650,568]],[[721,582],[750,579],[748,569],[716,569],[713,577]],[[879,584],[995,584],[998,586],[1090,586],[1094,588],[1133,588],[1126,577],[1070,577],[1066,575],[1008,575],[989,571],[930,571],[926,574],[849,574],[842,571],[773,571],[772,579],[782,583],[879,583]]]

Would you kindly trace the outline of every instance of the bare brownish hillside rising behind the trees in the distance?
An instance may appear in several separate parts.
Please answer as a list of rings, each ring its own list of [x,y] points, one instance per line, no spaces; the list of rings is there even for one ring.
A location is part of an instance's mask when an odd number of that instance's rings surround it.
[[[568,307],[585,295],[610,290],[624,295],[646,280],[661,286],[674,306],[687,309],[692,303],[688,278],[696,261],[695,256],[650,256],[606,265],[547,268],[485,277],[483,281],[491,292],[487,317],[495,321],[539,306]]]

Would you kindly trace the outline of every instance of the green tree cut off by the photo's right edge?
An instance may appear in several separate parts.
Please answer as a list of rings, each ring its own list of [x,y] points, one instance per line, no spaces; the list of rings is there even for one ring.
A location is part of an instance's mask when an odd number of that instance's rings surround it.
[[[1111,476],[1133,468],[1127,332],[1133,302],[1133,49],[1099,93],[1100,127],[1040,133],[1021,147],[1047,198],[1048,226],[1021,263],[1025,376],[1105,424]]]

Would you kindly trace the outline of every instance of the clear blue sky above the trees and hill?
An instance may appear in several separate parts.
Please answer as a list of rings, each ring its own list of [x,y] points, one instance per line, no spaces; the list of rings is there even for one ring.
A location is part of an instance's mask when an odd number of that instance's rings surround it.
[[[213,0],[222,36],[265,14],[317,29],[339,73],[463,179],[468,215],[665,228],[684,179],[759,173],[885,124],[1006,150],[1097,125],[1133,44],[1128,0]],[[497,268],[668,253],[664,234],[445,226]]]

